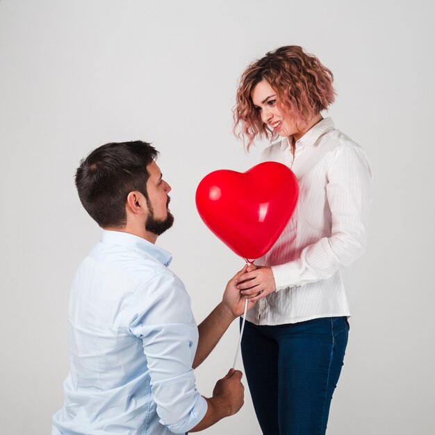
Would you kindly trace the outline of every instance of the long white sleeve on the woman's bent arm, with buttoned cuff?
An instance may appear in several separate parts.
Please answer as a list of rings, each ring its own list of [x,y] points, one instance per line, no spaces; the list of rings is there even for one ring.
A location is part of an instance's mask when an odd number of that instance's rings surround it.
[[[361,147],[339,147],[327,172],[331,236],[302,249],[297,260],[272,266],[277,290],[331,277],[366,250],[372,171]]]

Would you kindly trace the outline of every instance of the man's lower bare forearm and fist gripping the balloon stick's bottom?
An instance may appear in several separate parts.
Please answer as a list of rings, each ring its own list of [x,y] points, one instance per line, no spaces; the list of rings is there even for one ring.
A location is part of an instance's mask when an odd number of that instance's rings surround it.
[[[245,387],[242,372],[231,368],[227,375],[216,382],[213,397],[206,398],[208,407],[204,418],[189,432],[198,432],[214,425],[221,418],[233,416],[243,407]]]

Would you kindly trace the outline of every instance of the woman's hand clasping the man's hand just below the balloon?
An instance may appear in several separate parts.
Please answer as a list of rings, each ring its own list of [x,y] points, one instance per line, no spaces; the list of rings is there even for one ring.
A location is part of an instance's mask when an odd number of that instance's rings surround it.
[[[277,289],[272,268],[257,266],[256,270],[236,277],[237,288],[249,302],[256,302]]]

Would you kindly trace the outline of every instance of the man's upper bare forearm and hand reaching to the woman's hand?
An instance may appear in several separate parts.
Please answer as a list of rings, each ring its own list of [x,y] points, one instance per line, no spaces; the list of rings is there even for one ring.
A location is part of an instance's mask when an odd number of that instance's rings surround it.
[[[198,326],[199,340],[195,359],[192,368],[197,368],[206,359],[210,352],[215,348],[231,322],[243,314],[245,309],[245,297],[240,294],[236,287],[236,280],[245,272],[255,270],[254,265],[245,267],[232,277],[225,288],[222,302],[201,322]],[[252,308],[254,302],[249,302],[248,310]]]

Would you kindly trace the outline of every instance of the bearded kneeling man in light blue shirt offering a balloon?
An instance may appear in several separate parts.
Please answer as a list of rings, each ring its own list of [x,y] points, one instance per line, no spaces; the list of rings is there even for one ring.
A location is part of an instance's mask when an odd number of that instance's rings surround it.
[[[70,372],[52,434],[197,432],[243,405],[242,373],[230,370],[213,397],[196,368],[243,313],[236,274],[199,327],[168,252],[154,245],[172,226],[171,188],[146,142],[103,145],[81,161],[81,203],[104,229],[72,284]]]

